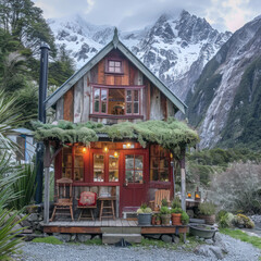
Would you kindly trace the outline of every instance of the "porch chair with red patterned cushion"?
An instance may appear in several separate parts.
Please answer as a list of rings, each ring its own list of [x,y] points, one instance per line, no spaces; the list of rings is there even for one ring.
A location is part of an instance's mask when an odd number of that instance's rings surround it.
[[[91,191],[83,191],[77,200],[77,209],[79,209],[78,221],[80,219],[91,219],[94,221],[94,209],[97,208],[97,194]],[[88,210],[90,211],[90,216],[84,214],[84,212]]]

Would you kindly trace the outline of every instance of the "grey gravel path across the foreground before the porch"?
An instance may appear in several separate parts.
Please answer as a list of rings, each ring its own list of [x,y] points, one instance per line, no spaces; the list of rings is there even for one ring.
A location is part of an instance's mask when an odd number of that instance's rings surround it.
[[[256,261],[259,260],[260,250],[252,245],[243,243],[232,237],[222,235],[223,241],[228,247],[228,254],[224,261]],[[185,250],[169,250],[163,248],[116,248],[113,246],[87,246],[87,245],[50,245],[44,243],[25,243],[22,247],[23,254],[21,261],[77,261],[77,260],[97,260],[97,261],[213,261],[216,258],[206,258],[196,256]]]

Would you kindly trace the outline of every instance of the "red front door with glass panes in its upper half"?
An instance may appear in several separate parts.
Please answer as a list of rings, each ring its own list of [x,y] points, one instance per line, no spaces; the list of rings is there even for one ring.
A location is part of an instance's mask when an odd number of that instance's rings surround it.
[[[148,199],[148,156],[147,150],[132,150],[123,153],[120,213],[122,213],[124,207],[140,207]]]

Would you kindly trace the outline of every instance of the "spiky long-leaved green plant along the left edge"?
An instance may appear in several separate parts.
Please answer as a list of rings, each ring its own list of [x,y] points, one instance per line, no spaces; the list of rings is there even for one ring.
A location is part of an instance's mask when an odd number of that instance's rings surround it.
[[[20,107],[15,104],[15,97],[7,97],[0,91],[0,260],[7,260],[16,251],[21,238],[15,237],[22,229],[15,225],[21,222],[16,220],[20,212],[7,209],[7,206],[18,197],[12,186],[17,182],[16,166],[10,164],[10,158],[14,145],[7,138],[10,130],[20,124]]]

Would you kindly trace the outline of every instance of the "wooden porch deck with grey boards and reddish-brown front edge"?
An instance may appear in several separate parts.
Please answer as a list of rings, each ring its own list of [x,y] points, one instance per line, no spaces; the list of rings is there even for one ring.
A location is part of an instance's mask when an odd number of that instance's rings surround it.
[[[79,233],[79,234],[103,234],[103,233],[140,233],[140,234],[179,234],[188,232],[188,226],[163,226],[149,225],[139,226],[137,221],[123,219],[102,221],[54,221],[42,224],[45,233]]]

